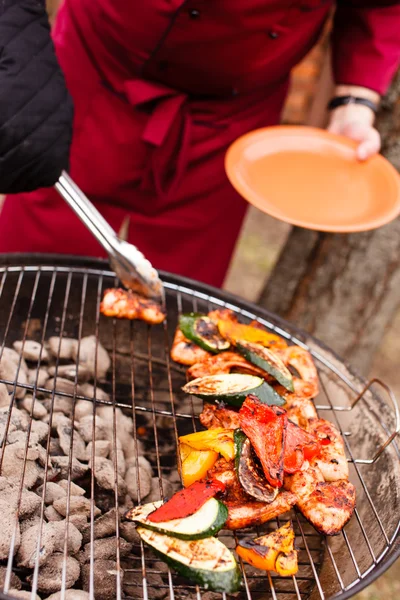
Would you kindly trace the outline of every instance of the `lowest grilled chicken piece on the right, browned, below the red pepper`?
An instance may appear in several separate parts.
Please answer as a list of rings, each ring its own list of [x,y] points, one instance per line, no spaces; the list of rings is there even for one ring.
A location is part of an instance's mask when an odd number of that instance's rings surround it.
[[[320,533],[337,535],[353,514],[353,484],[344,479],[326,483],[318,467],[286,475],[284,485],[297,496],[297,506]]]

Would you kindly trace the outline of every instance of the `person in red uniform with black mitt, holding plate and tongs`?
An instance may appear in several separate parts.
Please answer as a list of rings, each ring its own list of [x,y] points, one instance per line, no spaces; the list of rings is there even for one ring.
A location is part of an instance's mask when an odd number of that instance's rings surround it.
[[[69,168],[115,230],[130,217],[129,241],[156,268],[220,286],[246,211],[225,152],[279,122],[334,4],[329,129],[363,160],[379,151],[400,2],[64,0],[56,60],[43,2],[2,0],[0,252],[102,255],[51,187]]]

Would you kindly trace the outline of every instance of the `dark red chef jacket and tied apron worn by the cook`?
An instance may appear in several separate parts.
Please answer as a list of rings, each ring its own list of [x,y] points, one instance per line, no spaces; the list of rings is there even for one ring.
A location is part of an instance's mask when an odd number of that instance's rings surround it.
[[[131,216],[129,239],[155,267],[221,285],[246,209],[224,154],[279,121],[290,70],[332,5],[64,0],[54,42],[75,104],[71,175],[116,230]],[[399,31],[400,2],[338,1],[336,81],[382,93]],[[48,189],[7,197],[0,251],[102,255]]]

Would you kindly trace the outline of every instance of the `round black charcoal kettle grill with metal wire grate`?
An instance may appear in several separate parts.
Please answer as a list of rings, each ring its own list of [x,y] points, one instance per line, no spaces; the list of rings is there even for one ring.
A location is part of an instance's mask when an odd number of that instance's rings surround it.
[[[117,407],[133,420],[135,442],[144,446],[146,457],[159,478],[163,497],[165,481],[177,466],[179,435],[199,427],[201,401],[188,398],[180,388],[185,382],[185,368],[171,362],[169,348],[177,324],[178,314],[188,311],[207,312],[217,307],[228,307],[240,315],[243,322],[257,319],[277,332],[289,343],[307,348],[318,368],[321,392],[316,406],[321,417],[337,425],[343,435],[350,466],[350,479],[357,490],[357,508],[339,536],[325,538],[304,520],[297,510],[283,515],[278,522],[270,522],[254,532],[222,531],[220,539],[234,548],[235,540],[249,533],[262,534],[292,518],[299,550],[299,571],[296,576],[281,578],[275,574],[257,571],[241,564],[244,576],[242,591],[229,597],[247,600],[305,600],[350,598],[381,575],[400,555],[400,454],[396,434],[400,420],[396,400],[391,390],[381,381],[364,382],[335,354],[308,334],[268,312],[227,293],[188,279],[162,274],[165,282],[167,320],[164,325],[149,327],[143,322],[108,319],[99,315],[99,304],[104,289],[116,284],[115,276],[104,261],[77,257],[8,255],[0,264],[0,356],[4,347],[16,340],[28,339],[44,343],[50,336],[67,336],[81,340],[96,336],[108,350],[111,368],[106,381],[94,381],[108,391],[111,400],[90,398],[80,393],[75,382],[71,394],[58,392],[57,372],[55,388],[29,383],[0,380],[14,386],[14,392],[25,387],[34,398],[70,397],[91,403],[93,415],[100,406],[110,404],[114,415]],[[79,350],[78,350],[79,352]],[[56,359],[56,369],[62,361]],[[21,366],[21,365],[20,365]],[[38,368],[40,367],[40,359]],[[15,407],[14,394],[10,406]],[[52,412],[50,411],[50,419]],[[74,414],[72,415],[74,418]],[[7,427],[10,424],[10,418]],[[116,489],[113,502],[118,508],[117,489],[118,430],[113,422],[113,465]],[[6,432],[7,434],[7,432]],[[27,438],[30,430],[28,428]],[[50,438],[43,444],[49,451]],[[69,451],[69,479],[74,438]],[[93,433],[93,443],[95,437]],[[28,442],[26,444],[28,448]],[[0,469],[4,447],[1,449]],[[26,461],[25,457],[25,461]],[[47,467],[46,467],[47,468]],[[21,486],[22,489],[22,486]],[[90,497],[90,562],[88,591],[94,594],[94,511],[96,487],[93,473],[89,475]],[[40,523],[44,521],[44,495],[38,510]],[[67,522],[69,519],[67,504]],[[157,561],[152,552],[140,542],[134,544],[131,554],[120,551],[121,519],[116,512],[116,569],[115,598],[131,599],[196,599],[225,600],[220,593],[204,591],[169,571]],[[6,567],[3,592],[0,598],[10,598],[12,574],[23,582],[23,589],[36,593],[39,572],[35,562],[31,584],[26,572],[16,564],[12,537]],[[38,549],[40,548],[40,535]],[[67,580],[67,544],[63,549],[63,588]],[[40,556],[40,553],[37,553]],[[32,571],[30,571],[32,573]],[[74,588],[79,588],[79,581]],[[32,598],[35,596],[32,595]],[[42,596],[43,597],[43,596]]]

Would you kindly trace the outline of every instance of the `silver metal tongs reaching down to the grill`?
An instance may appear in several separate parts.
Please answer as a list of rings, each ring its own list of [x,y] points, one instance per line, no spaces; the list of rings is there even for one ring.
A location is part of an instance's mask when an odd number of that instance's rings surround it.
[[[110,265],[122,284],[148,298],[164,300],[164,286],[157,271],[134,246],[120,240],[114,229],[65,171],[56,190],[106,250]]]

